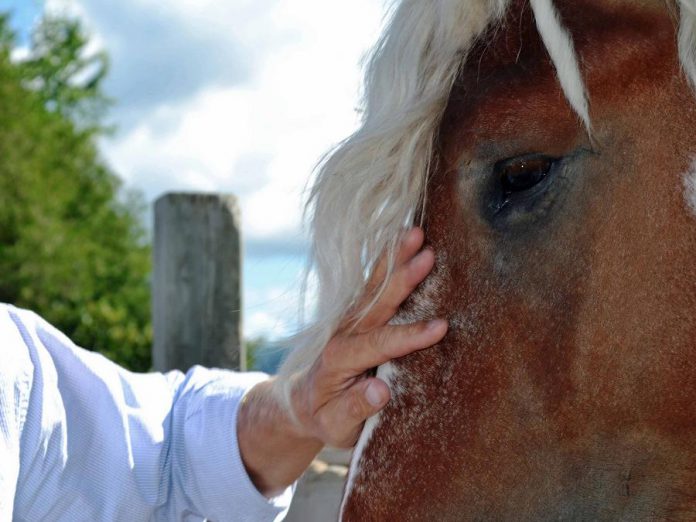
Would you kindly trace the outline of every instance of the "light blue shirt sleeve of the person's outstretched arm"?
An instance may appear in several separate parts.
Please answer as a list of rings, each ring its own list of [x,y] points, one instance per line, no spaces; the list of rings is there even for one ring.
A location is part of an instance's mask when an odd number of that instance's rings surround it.
[[[14,337],[6,337],[10,327]],[[18,459],[16,480],[7,473],[16,488],[7,520],[285,517],[292,488],[273,499],[261,495],[236,438],[239,404],[266,375],[202,367],[131,373],[11,306],[0,307],[0,333],[3,351],[24,357],[23,372],[13,372],[19,377],[0,372],[0,437],[7,431],[15,442],[6,446],[17,449],[6,452],[0,440],[0,453]],[[15,387],[26,392],[7,399],[3,389],[13,379],[24,379]],[[13,408],[18,413],[8,415]]]

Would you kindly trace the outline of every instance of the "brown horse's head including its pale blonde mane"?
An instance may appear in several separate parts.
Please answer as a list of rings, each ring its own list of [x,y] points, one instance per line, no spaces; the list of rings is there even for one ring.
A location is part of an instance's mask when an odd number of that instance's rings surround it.
[[[393,7],[281,375],[369,309],[407,224],[436,265],[394,322],[450,330],[377,369],[343,521],[696,520],[695,88],[693,0]]]

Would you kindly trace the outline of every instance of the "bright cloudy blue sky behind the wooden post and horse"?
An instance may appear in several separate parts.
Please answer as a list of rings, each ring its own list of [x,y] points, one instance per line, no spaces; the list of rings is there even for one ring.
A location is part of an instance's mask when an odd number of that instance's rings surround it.
[[[302,203],[323,153],[358,125],[362,59],[384,0],[0,0],[19,46],[44,10],[106,49],[118,131],[101,151],[149,202],[233,193],[242,209],[244,330],[296,328]],[[21,51],[19,51],[21,53]]]

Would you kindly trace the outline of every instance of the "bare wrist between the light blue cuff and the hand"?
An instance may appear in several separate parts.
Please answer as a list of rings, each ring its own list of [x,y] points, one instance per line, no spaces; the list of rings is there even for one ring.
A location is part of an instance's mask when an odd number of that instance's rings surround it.
[[[237,438],[244,465],[258,490],[272,497],[295,482],[323,447],[302,434],[273,395],[273,384],[257,384],[240,405]]]

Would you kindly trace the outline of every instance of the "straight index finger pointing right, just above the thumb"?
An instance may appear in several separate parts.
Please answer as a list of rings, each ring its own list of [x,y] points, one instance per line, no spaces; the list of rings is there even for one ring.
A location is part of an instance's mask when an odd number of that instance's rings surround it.
[[[326,364],[346,376],[363,372],[432,346],[447,333],[447,321],[437,319],[406,325],[387,325],[361,335],[344,337],[341,342],[327,346]]]

